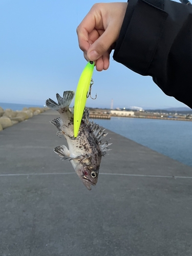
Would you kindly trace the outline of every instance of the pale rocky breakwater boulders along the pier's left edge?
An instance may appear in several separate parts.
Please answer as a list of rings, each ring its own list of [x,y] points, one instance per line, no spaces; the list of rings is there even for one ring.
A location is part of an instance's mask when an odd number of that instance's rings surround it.
[[[24,108],[21,111],[13,111],[11,109],[4,110],[0,106],[0,131],[6,129],[9,126],[12,126],[13,124],[22,122],[28,118],[38,115],[46,110],[48,110],[48,108],[31,107]]]

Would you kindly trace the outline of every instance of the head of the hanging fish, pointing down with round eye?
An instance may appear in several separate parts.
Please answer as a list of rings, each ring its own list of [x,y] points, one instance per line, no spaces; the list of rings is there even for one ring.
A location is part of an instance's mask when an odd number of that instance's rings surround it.
[[[95,186],[97,184],[99,166],[93,167],[91,165],[78,164],[75,172],[89,190],[91,190],[91,185]]]

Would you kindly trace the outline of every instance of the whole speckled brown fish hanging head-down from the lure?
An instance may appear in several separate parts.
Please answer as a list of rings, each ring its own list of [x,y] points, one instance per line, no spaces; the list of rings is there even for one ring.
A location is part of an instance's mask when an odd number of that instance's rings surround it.
[[[101,157],[111,150],[108,146],[112,143],[109,143],[110,139],[102,142],[108,133],[104,132],[103,127],[89,121],[87,107],[83,111],[78,135],[74,137],[74,109],[69,108],[74,94],[74,91],[65,91],[61,97],[57,93],[58,103],[50,98],[46,100],[48,108],[60,114],[60,117],[54,118],[51,123],[56,126],[57,135],[63,135],[66,138],[69,147],[59,145],[54,148],[54,152],[62,160],[68,159],[71,162],[84,186],[91,190],[91,185],[95,186],[98,181]]]

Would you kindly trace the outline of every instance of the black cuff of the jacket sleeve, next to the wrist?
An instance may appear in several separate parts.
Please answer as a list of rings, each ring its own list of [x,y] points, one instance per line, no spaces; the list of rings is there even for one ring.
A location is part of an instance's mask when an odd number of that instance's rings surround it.
[[[148,2],[129,0],[113,58],[145,75],[153,60],[168,14]],[[159,3],[154,1],[153,3]]]

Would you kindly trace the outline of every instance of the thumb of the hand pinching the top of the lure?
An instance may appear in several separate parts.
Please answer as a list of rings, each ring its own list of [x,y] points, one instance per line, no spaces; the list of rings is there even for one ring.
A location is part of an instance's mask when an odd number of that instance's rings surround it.
[[[95,61],[100,58],[117,40],[117,33],[114,33],[114,28],[109,26],[104,33],[93,42],[87,51],[89,60]]]

